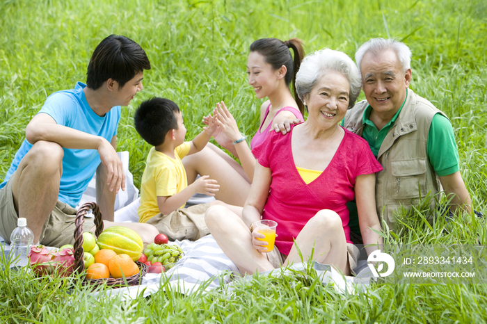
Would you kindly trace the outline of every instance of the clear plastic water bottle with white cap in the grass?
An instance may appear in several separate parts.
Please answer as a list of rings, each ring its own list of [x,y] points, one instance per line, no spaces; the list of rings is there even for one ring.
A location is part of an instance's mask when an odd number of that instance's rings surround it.
[[[15,228],[10,235],[10,253],[13,255],[13,266],[26,266],[29,264],[29,254],[31,250],[31,244],[34,241],[34,234],[27,227],[27,220],[25,218],[19,218],[17,220],[17,228]],[[17,257],[19,257],[17,259]]]

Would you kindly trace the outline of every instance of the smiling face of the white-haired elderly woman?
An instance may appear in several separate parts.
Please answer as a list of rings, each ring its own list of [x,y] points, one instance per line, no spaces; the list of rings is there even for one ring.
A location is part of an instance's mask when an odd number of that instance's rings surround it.
[[[328,71],[304,102],[308,106],[308,119],[322,124],[325,129],[338,124],[349,106],[350,83],[341,72]]]

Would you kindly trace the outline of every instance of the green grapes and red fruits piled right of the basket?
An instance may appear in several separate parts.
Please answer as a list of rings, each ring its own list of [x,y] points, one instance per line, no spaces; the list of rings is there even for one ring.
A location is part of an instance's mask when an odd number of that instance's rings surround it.
[[[154,243],[147,245],[138,261],[147,264],[149,273],[161,273],[173,268],[182,255],[182,248],[168,244],[168,237],[159,234],[154,238]]]

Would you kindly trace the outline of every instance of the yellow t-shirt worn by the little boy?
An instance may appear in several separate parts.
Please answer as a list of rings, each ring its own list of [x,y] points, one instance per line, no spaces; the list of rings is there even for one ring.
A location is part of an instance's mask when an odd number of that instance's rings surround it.
[[[172,196],[188,186],[186,171],[181,159],[189,153],[190,142],[184,142],[174,150],[176,159],[157,152],[155,147],[147,155],[147,165],[142,175],[139,222],[147,222],[159,212],[157,196]],[[181,206],[181,208],[184,205]]]

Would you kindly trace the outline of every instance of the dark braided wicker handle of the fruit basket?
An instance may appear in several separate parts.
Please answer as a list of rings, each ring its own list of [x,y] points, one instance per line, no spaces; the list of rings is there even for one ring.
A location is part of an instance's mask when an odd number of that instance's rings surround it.
[[[83,263],[83,223],[85,222],[84,216],[90,209],[93,216],[95,216],[96,237],[103,232],[102,212],[99,211],[99,207],[95,202],[86,202],[78,209],[76,219],[74,220],[74,269],[79,274],[85,270]]]

